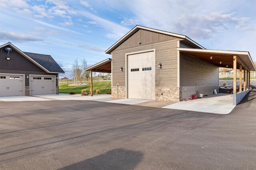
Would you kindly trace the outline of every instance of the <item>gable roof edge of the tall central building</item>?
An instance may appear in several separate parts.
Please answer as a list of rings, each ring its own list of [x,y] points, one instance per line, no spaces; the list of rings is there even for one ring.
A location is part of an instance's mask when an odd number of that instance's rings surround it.
[[[143,27],[140,25],[136,25],[132,30],[130,30],[128,33],[126,33],[126,35],[124,35],[121,39],[119,39],[114,45],[112,45],[109,49],[107,49],[105,51],[105,53],[110,54],[114,49],[116,49],[116,47],[118,47],[120,44],[122,44],[124,41],[126,41],[126,39],[128,39],[131,35],[133,35],[139,29],[144,29],[146,31],[152,31],[152,32],[156,32],[156,33],[160,33],[160,34],[164,34],[164,35],[170,35],[172,37],[181,38],[181,39],[183,39],[182,41],[185,41],[186,43],[194,45],[195,47],[198,47],[200,49],[205,49],[204,47],[202,47],[201,45],[199,45],[198,43],[196,43],[195,41],[193,41],[186,35],[181,35],[181,34],[177,34],[177,33],[171,33],[168,31],[161,31],[159,29],[153,29],[153,28],[149,28],[149,27]]]

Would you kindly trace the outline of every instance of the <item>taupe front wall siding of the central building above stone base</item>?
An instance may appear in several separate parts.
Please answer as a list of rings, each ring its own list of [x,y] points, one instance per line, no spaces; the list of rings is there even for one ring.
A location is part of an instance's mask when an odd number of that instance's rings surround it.
[[[176,37],[138,30],[112,51],[112,86],[125,86],[125,54],[155,49],[156,87],[177,86],[177,41]],[[139,45],[138,42],[141,42]],[[162,68],[158,63],[162,62]],[[123,71],[120,71],[123,66]]]

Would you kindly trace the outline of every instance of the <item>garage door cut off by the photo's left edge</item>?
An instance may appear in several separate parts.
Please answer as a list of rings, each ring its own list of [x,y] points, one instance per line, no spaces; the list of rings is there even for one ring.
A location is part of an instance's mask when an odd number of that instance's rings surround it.
[[[0,96],[25,95],[24,76],[0,74]]]

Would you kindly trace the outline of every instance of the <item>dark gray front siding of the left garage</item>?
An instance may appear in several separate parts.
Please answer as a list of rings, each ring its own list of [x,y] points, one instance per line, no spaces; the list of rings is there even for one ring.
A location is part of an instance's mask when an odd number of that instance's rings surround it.
[[[49,74],[38,67],[36,64],[32,63],[26,59],[23,55],[12,49],[9,53],[10,60],[6,60],[7,52],[2,47],[0,49],[0,73],[6,74],[40,74],[40,75],[54,75]],[[29,86],[29,78],[25,78],[25,86]],[[58,81],[56,80],[56,86],[58,86]]]

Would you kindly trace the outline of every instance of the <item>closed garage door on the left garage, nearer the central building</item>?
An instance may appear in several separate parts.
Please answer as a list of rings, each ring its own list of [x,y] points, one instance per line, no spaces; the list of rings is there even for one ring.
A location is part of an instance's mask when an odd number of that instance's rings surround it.
[[[31,76],[30,94],[55,94],[54,76]]]

